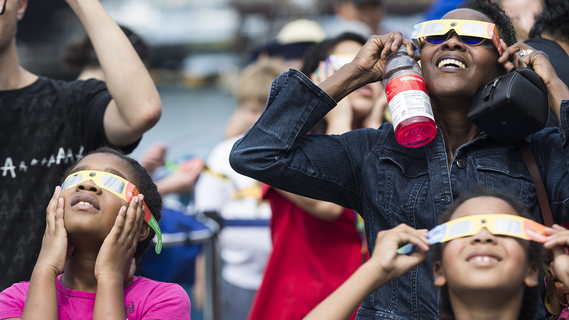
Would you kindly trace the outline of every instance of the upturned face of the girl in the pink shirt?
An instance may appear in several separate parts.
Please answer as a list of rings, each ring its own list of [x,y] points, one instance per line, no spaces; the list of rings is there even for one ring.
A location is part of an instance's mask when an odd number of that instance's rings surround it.
[[[130,182],[134,177],[126,162],[121,158],[107,153],[96,153],[86,156],[77,163],[73,172],[81,170],[98,170],[119,175]],[[113,228],[119,209],[128,203],[87,180],[77,186],[61,191],[65,200],[64,221],[69,241],[80,237],[101,244]],[[85,201],[89,204],[79,204]]]

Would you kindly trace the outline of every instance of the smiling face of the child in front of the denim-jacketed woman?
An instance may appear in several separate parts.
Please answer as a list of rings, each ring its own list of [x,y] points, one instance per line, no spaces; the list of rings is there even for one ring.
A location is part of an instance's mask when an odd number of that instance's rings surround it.
[[[480,196],[461,204],[451,220],[477,214],[518,215],[504,200]],[[433,268],[435,285],[448,285],[453,292],[535,286],[538,266],[529,261],[528,247],[527,240],[493,235],[486,228],[448,241],[443,244],[442,261],[435,262]]]

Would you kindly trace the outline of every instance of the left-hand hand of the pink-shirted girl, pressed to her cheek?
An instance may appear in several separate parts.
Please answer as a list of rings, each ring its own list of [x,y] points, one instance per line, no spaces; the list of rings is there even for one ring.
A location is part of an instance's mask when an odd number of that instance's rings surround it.
[[[57,186],[46,210],[46,233],[43,235],[42,250],[35,268],[53,270],[55,276],[63,273],[65,261],[71,257],[75,247],[67,242],[67,231],[63,221],[64,199],[59,198],[61,187]]]

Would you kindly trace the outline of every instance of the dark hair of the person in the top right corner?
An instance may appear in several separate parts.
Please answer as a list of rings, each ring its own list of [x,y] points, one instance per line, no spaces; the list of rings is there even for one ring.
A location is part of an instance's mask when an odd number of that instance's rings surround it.
[[[556,40],[569,42],[569,1],[545,0],[543,10],[530,30],[530,37],[539,38],[544,32]]]

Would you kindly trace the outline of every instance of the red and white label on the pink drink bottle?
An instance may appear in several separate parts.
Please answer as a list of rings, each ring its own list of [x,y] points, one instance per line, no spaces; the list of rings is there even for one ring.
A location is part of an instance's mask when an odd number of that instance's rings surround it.
[[[417,75],[395,77],[387,83],[385,95],[389,102],[393,128],[397,128],[402,121],[410,117],[424,116],[435,120],[422,77]]]

